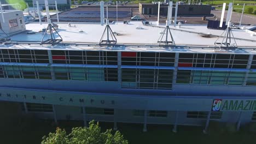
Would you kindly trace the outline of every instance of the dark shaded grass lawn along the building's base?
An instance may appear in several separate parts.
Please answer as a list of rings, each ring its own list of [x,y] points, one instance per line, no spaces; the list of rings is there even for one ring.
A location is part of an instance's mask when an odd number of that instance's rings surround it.
[[[211,124],[211,123],[210,123]],[[37,123],[37,127],[22,129],[20,127],[2,129],[0,143],[40,143],[44,135],[55,131],[51,122]],[[103,130],[113,128],[113,123],[100,123]],[[68,133],[72,127],[82,127],[82,121],[60,122],[59,127],[65,128]],[[211,143],[255,143],[255,134],[240,131],[238,133],[212,133],[202,134],[202,127],[178,126],[178,133],[172,133],[172,125],[148,125],[148,132],[142,132],[143,124],[118,123],[118,129],[124,134],[125,139],[132,144],[156,144],[156,143],[179,143],[179,144],[211,144]]]

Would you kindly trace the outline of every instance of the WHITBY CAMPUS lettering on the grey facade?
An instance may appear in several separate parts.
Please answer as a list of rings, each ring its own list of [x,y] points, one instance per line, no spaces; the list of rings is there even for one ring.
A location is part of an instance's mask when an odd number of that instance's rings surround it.
[[[22,99],[27,99],[27,100],[32,100],[32,99],[33,100],[50,100],[46,96],[36,96],[36,95],[26,95],[26,94],[10,94],[10,93],[6,93],[6,94],[0,93],[0,98],[1,97],[22,98]],[[92,98],[88,98],[88,99],[84,99],[84,98],[74,99],[74,98],[56,97],[56,99],[61,101],[61,102],[65,101],[65,102],[69,102],[69,103],[75,103],[75,102],[90,103],[90,104],[100,103],[102,105],[103,104],[111,104],[111,105],[115,104],[114,100],[96,100],[96,99],[92,99]]]

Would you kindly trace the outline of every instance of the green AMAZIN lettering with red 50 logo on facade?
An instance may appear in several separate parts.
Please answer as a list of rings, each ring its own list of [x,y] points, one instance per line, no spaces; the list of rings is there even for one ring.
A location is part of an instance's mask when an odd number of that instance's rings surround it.
[[[212,111],[255,111],[256,100],[214,99]]]

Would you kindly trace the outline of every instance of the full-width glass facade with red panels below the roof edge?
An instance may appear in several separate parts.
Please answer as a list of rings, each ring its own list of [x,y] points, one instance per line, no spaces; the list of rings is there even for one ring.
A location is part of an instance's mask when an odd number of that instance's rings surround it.
[[[251,60],[215,53],[120,52],[118,57],[117,51],[0,49],[0,78],[113,81],[134,89],[171,90],[175,83],[256,86],[256,56]]]

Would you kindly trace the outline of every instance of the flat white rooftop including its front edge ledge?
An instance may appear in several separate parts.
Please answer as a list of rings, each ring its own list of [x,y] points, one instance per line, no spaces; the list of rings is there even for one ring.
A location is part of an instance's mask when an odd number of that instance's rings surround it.
[[[217,35],[221,35],[223,30],[208,29],[206,25],[182,25],[179,28],[170,26],[174,41],[177,45],[177,49],[166,49],[158,47],[157,41],[160,37],[160,33],[164,30],[165,26],[156,27],[152,22],[152,26],[143,26],[141,21],[132,21],[130,24],[124,24],[123,22],[110,24],[112,31],[117,38],[117,44],[124,44],[126,46],[119,47],[104,47],[96,45],[100,42],[104,28],[106,25],[101,26],[100,23],[71,23],[71,27],[68,23],[57,23],[59,29],[57,30],[63,38],[63,43],[89,43],[91,45],[27,45],[27,44],[5,44],[0,45],[0,48],[7,49],[61,49],[61,50],[117,50],[117,51],[158,51],[158,52],[199,52],[199,53],[256,53],[256,35],[254,32],[242,29],[233,29],[234,37],[236,39],[237,46],[240,47],[253,47],[253,49],[240,49],[240,50],[225,50],[217,51],[216,49],[207,49],[207,47],[213,47],[214,42],[217,40]],[[27,30],[31,30],[33,34],[27,34],[22,32],[15,34],[11,37],[11,41],[21,42],[38,42],[41,41],[43,34],[39,32],[41,29],[46,28],[47,23],[40,25],[39,23],[27,23]],[[143,29],[137,29],[136,27],[142,27]],[[251,26],[252,27],[252,26]],[[247,28],[251,28],[247,27]],[[79,32],[79,31],[83,32]],[[202,37],[204,34],[215,35],[211,38]],[[3,36],[3,35],[2,35]],[[46,35],[46,37],[49,37]],[[106,35],[105,37],[106,38]],[[171,38],[169,38],[171,39]],[[242,40],[241,40],[242,39]],[[219,42],[222,40],[220,38]],[[144,45],[144,46],[129,46]],[[149,46],[155,45],[155,46]],[[196,46],[205,47],[206,49],[191,49]],[[179,49],[178,49],[179,48]],[[184,49],[183,49],[184,48]],[[255,49],[255,50],[254,50]]]

